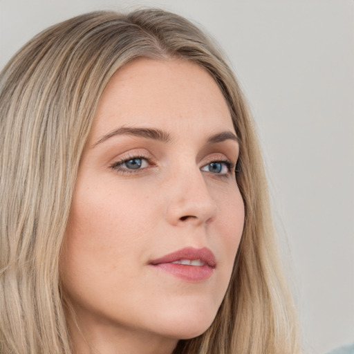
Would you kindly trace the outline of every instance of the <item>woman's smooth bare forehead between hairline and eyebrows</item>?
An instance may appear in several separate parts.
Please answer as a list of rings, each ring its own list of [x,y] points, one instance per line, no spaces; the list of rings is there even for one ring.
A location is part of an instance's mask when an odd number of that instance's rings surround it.
[[[184,59],[135,59],[111,77],[97,106],[92,136],[119,125],[171,132],[234,131],[225,97],[204,68]]]

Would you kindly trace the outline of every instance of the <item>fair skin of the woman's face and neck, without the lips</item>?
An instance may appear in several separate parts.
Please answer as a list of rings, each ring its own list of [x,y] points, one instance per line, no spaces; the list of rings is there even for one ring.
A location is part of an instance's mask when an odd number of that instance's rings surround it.
[[[122,127],[160,129],[169,141],[112,133]],[[196,64],[140,58],[113,75],[80,162],[60,264],[80,328],[68,313],[75,354],[171,353],[212,324],[244,218],[239,145],[207,142],[225,131],[236,134],[223,94]],[[149,264],[185,247],[212,250],[209,279]]]

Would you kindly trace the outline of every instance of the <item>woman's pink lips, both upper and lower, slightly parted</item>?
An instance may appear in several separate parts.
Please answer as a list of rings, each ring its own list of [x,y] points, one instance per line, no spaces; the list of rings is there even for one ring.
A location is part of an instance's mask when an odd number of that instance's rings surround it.
[[[189,259],[191,261],[199,259],[205,264],[183,265],[172,263],[182,259]],[[182,250],[166,254],[159,259],[154,259],[149,262],[149,265],[152,265],[154,268],[159,270],[164,270],[165,272],[174,275],[174,277],[195,283],[209,279],[209,277],[212,276],[214,269],[216,268],[216,259],[213,252],[209,250],[209,248],[187,247]]]

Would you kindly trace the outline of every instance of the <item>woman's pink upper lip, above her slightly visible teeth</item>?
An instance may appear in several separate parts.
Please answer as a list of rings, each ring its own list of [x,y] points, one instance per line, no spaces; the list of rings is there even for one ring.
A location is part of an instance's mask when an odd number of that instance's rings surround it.
[[[200,259],[201,261],[205,262],[209,267],[215,268],[216,266],[216,259],[211,250],[209,248],[192,248],[187,247],[183,248],[182,250],[178,250],[176,252],[171,252],[166,254],[165,256],[154,259],[150,262],[152,265],[157,265],[160,263],[172,263],[175,261],[180,261],[181,259],[190,259],[194,261],[196,259]]]

